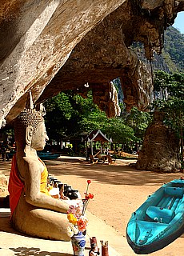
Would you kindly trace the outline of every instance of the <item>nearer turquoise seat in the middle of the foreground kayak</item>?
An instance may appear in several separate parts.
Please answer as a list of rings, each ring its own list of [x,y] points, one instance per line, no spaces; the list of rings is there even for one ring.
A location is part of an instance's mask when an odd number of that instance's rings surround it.
[[[146,210],[146,215],[154,222],[168,224],[172,218],[174,218],[174,210],[157,206],[149,206]]]

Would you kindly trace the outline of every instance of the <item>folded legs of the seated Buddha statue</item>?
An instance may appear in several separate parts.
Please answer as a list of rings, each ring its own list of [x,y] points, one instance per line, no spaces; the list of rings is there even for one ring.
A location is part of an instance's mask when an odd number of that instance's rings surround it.
[[[70,241],[66,214],[18,203],[12,217],[14,229],[34,237]]]

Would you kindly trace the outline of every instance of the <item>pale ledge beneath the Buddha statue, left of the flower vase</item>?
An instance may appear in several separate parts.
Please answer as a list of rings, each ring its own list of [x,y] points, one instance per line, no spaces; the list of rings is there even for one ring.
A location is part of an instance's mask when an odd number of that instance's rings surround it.
[[[2,216],[1,216],[2,214]],[[48,255],[72,255],[73,249],[71,242],[53,241],[42,238],[31,238],[18,233],[10,226],[10,213],[0,209],[0,237],[1,255],[13,256],[14,254],[48,254]],[[10,249],[11,248],[11,249]]]

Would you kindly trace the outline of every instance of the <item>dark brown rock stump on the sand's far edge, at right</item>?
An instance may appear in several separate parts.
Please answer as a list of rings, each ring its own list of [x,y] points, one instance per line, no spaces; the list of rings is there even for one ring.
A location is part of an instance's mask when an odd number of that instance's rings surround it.
[[[138,170],[179,171],[179,138],[162,122],[162,114],[154,112],[154,122],[146,129],[142,150],[138,154]]]

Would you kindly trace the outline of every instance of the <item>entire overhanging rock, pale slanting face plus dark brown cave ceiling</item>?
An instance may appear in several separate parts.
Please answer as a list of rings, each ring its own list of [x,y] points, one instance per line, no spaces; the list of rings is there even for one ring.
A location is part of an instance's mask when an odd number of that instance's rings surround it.
[[[143,42],[151,58],[181,10],[183,0],[2,0],[1,123],[17,116],[30,89],[38,103],[62,90],[80,92],[86,83],[92,90],[109,90],[117,77],[127,106],[144,110],[150,75],[130,45]]]

